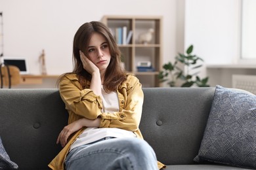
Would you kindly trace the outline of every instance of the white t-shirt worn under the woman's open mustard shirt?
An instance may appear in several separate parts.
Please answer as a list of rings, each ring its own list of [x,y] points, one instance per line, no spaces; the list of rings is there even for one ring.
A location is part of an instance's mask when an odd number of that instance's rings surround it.
[[[119,101],[117,92],[106,93],[102,86],[102,112],[117,112],[119,110]],[[97,128],[87,127],[81,135],[77,137],[72,144],[70,150],[83,144],[93,143],[104,137],[136,137],[132,131],[127,131],[119,128]]]

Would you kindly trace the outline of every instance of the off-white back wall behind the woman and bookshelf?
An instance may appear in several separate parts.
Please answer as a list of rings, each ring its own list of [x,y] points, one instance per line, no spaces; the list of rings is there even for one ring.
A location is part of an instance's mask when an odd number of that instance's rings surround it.
[[[72,71],[72,41],[81,24],[104,15],[157,15],[163,16],[163,62],[167,62],[177,54],[178,1],[184,0],[1,0],[4,54],[28,58],[30,73],[37,75],[39,55],[45,49],[47,73],[59,75]]]

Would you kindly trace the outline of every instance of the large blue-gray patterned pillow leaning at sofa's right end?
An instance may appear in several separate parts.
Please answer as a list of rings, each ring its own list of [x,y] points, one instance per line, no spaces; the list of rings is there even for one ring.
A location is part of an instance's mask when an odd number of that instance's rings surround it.
[[[256,168],[256,95],[216,87],[200,150],[194,161]]]

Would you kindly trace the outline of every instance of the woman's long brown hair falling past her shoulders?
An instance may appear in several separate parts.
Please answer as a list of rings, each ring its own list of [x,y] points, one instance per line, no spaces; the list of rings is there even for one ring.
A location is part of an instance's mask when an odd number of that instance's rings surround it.
[[[93,33],[100,33],[100,35],[102,35],[108,43],[111,59],[104,75],[103,86],[106,92],[113,92],[117,89],[117,86],[121,82],[126,80],[126,76],[120,66],[121,52],[116,44],[116,41],[108,27],[106,27],[106,25],[102,24],[101,22],[87,22],[81,25],[81,27],[79,27],[75,33],[73,43],[74,69],[72,73],[77,74],[79,77],[79,82],[83,88],[85,88],[85,82],[87,80],[91,81],[91,74],[83,69],[83,63],[80,59],[79,50],[81,50],[85,56],[89,56],[87,47],[89,46],[89,42]]]

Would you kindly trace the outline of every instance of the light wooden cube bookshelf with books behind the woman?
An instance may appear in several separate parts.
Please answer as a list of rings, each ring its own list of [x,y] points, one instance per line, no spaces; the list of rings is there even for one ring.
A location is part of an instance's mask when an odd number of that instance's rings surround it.
[[[134,73],[143,87],[159,87],[158,74],[162,66],[162,17],[103,16],[102,22],[110,28],[116,38],[125,71]],[[145,33],[148,35],[143,38]],[[150,67],[141,65],[138,68],[138,63],[150,64]]]

